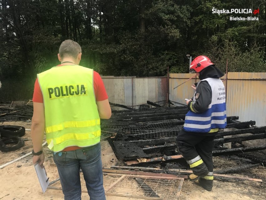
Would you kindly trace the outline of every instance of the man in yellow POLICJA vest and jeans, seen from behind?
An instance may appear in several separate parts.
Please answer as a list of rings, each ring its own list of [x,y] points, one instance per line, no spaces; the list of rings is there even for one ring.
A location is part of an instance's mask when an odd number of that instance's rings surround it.
[[[98,73],[79,66],[77,42],[62,42],[58,59],[60,65],[37,74],[34,86],[33,163],[44,162],[45,131],[65,199],[81,199],[81,168],[90,199],[105,200],[100,118],[111,117],[106,90]]]

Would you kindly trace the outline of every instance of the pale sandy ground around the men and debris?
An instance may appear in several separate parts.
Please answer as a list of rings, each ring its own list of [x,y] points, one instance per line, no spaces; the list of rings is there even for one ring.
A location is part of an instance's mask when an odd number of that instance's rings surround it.
[[[30,123],[27,122],[6,122],[3,124],[24,126],[30,128]],[[1,124],[0,124],[1,125]],[[30,132],[26,132],[23,136],[24,139],[30,139]],[[0,151],[0,165],[12,161],[13,159],[21,157],[23,154],[29,153],[32,150],[31,140],[25,141],[25,146],[15,152],[2,153]],[[104,168],[110,168],[112,165],[117,164],[116,156],[114,155],[111,147],[107,141],[101,142],[102,147],[102,162]],[[50,166],[53,163],[52,154],[44,148],[46,155],[45,168],[49,180],[55,180],[58,178],[57,168]],[[228,163],[226,158],[214,157],[214,165],[217,169]],[[231,162],[231,166],[237,166],[237,163]],[[214,187],[211,192],[204,190],[203,188],[195,185],[194,183],[185,180],[181,195],[179,199],[182,200],[219,200],[219,199],[230,199],[230,200],[264,200],[266,196],[266,169],[262,166],[253,168],[249,171],[245,171],[243,175],[233,174],[236,176],[245,176],[249,173],[250,178],[261,178],[263,183],[254,181],[224,181],[214,180]],[[3,169],[0,169],[0,200],[28,200],[28,199],[44,199],[44,200],[56,200],[64,199],[62,191],[48,189],[44,194],[42,193],[40,184],[38,183],[37,175],[35,173],[32,156],[28,156],[16,163],[13,163]],[[82,193],[82,200],[89,199],[88,194]],[[114,197],[106,196],[107,200],[122,200],[131,199],[126,197]],[[140,199],[140,198],[139,198]]]

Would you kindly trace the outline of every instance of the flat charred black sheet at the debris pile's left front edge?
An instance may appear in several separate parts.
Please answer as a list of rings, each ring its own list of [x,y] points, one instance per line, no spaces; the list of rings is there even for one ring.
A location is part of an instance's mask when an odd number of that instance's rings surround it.
[[[133,143],[126,141],[114,141],[113,142],[116,154],[122,160],[134,160],[137,158],[151,158],[143,152],[143,149],[136,146]]]

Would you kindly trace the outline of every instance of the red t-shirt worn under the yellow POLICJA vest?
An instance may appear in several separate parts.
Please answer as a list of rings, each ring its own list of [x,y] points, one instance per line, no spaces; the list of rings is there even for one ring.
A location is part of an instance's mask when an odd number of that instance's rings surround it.
[[[57,65],[57,66],[62,66],[62,65]],[[108,99],[101,76],[99,73],[95,71],[93,71],[93,86],[94,86],[94,94],[95,94],[96,101],[104,101]],[[38,79],[36,79],[35,84],[34,84],[32,101],[36,103],[43,103],[42,91],[41,91]],[[67,147],[63,151],[73,151],[73,150],[77,150],[80,148],[81,147],[77,147],[77,146]]]

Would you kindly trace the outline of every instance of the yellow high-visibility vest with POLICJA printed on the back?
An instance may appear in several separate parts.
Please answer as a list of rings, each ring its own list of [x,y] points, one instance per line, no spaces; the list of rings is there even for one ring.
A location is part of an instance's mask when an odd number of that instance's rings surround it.
[[[37,74],[45,110],[48,147],[88,147],[100,142],[93,70],[78,65],[53,67]]]

